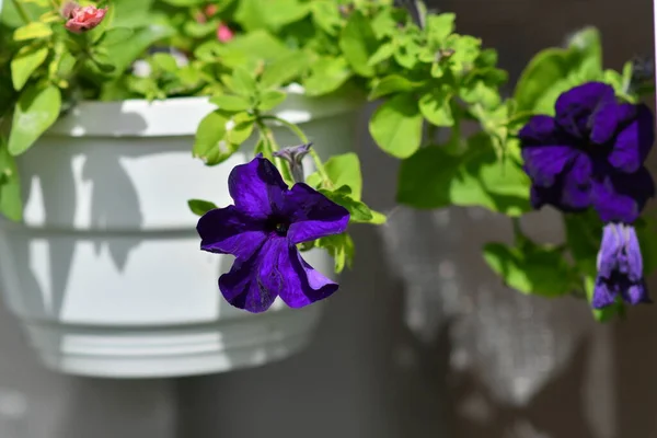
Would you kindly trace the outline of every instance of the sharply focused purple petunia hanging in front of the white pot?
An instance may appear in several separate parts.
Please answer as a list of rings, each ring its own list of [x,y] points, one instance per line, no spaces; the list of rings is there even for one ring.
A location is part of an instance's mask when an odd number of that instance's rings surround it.
[[[232,306],[264,312],[276,297],[301,308],[337,284],[301,258],[297,244],[344,232],[349,212],[303,183],[289,189],[268,160],[235,166],[228,180],[234,205],[205,214],[197,226],[204,251],[232,254],[219,289]]]

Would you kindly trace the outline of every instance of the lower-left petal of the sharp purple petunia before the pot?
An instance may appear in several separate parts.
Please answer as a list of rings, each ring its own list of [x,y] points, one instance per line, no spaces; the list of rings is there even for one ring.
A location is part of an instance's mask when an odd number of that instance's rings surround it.
[[[287,239],[270,238],[251,258],[237,258],[230,272],[219,277],[223,298],[253,313],[269,309],[289,275],[280,269],[280,257],[287,257],[288,246]]]

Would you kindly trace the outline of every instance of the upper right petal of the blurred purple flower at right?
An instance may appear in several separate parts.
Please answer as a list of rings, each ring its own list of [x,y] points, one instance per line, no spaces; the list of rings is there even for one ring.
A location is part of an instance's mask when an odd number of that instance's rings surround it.
[[[643,165],[655,141],[653,114],[646,105],[621,106],[632,108],[635,117],[618,134],[609,163],[619,171],[633,173]]]

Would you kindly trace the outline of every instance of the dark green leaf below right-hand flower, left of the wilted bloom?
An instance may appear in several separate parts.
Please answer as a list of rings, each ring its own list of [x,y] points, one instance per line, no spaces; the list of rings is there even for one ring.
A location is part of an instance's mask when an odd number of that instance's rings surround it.
[[[561,250],[529,241],[522,249],[488,243],[484,260],[507,286],[527,295],[564,296],[577,281]]]

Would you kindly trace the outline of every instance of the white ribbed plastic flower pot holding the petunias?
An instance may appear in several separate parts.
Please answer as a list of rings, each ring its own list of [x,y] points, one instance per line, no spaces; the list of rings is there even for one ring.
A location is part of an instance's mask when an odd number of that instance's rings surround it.
[[[359,102],[293,93],[277,112],[301,123],[320,154],[348,151]],[[207,168],[192,158],[200,97],[82,103],[19,160],[24,221],[0,227],[7,302],[47,367],[142,378],[221,372],[289,356],[307,344],[321,306],[264,314],[228,304],[219,275],[232,256],[199,250],[187,199],[232,203],[235,153]],[[299,140],[284,128],[281,145]],[[306,258],[324,274],[324,252]],[[339,292],[338,292],[339,293]]]

